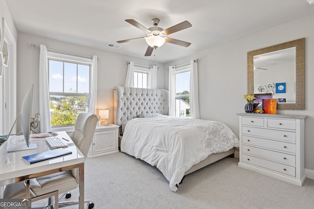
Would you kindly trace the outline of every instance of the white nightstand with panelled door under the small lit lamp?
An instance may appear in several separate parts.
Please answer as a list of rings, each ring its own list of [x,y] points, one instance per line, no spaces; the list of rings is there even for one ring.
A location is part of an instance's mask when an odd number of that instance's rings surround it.
[[[119,152],[118,133],[118,125],[97,126],[87,156],[93,158]]]

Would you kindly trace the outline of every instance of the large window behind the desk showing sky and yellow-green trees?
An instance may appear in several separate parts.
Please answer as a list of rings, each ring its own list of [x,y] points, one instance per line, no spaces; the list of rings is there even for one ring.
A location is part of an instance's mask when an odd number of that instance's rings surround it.
[[[49,95],[52,126],[74,125],[88,112],[92,60],[49,52]]]

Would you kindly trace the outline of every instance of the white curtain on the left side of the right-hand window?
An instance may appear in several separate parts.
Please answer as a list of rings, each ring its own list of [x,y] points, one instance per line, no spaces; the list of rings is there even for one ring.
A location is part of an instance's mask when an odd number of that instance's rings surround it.
[[[169,116],[176,116],[176,69],[169,66]]]

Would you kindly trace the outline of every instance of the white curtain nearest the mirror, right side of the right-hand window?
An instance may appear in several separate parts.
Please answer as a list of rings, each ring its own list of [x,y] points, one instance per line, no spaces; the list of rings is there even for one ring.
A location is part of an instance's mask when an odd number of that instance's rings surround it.
[[[198,103],[198,69],[196,60],[191,60],[190,111],[193,119],[200,119],[200,109]]]

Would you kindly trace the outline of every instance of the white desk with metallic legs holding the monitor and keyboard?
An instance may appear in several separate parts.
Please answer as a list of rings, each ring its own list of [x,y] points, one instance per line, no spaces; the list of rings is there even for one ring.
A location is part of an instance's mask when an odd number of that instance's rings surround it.
[[[50,150],[45,138],[30,138],[31,143],[36,143],[37,148],[8,153],[7,159],[0,165],[0,186],[12,184],[15,182],[25,181],[28,179],[45,176],[60,171],[79,168],[79,209],[84,207],[84,162],[85,157],[76,147],[66,132],[58,132],[59,137],[69,139],[64,140],[69,146],[65,149],[72,151],[71,155],[47,160],[39,163],[29,164],[23,156],[31,155]],[[23,141],[21,141],[23,139]],[[25,143],[23,136],[10,137],[8,146],[15,143]],[[26,195],[29,198],[29,186],[26,188]]]

